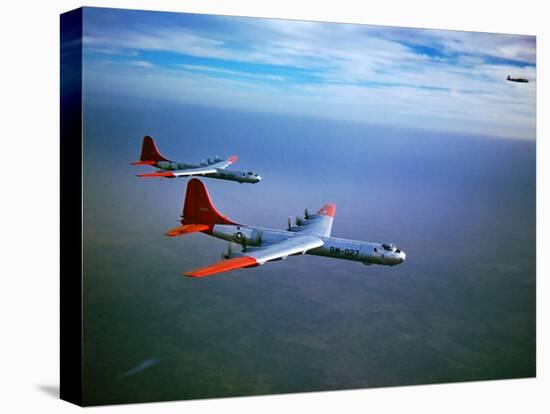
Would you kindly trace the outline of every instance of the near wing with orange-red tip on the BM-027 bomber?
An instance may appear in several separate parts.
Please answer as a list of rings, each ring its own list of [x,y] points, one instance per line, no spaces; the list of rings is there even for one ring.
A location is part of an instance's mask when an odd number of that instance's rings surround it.
[[[288,239],[262,247],[249,247],[243,256],[222,260],[206,267],[191,270],[186,272],[185,276],[204,277],[243,267],[254,267],[270,260],[286,259],[287,256],[304,254],[308,250],[321,247],[323,244],[323,241],[319,237],[311,235],[289,237]]]

